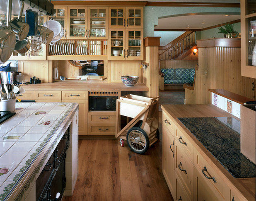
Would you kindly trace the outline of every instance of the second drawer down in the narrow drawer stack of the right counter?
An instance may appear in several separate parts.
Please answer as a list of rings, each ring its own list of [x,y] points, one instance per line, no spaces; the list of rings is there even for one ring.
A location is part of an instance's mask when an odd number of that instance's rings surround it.
[[[181,148],[179,142],[175,142],[176,164],[175,172],[181,180],[189,198],[193,200],[194,191],[194,165],[187,156],[186,150]]]

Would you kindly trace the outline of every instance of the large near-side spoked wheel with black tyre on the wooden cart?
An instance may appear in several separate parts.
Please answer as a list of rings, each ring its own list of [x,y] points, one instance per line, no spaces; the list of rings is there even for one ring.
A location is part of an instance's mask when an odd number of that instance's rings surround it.
[[[132,127],[127,132],[126,139],[131,151],[135,153],[145,153],[149,148],[147,133],[139,127]]]

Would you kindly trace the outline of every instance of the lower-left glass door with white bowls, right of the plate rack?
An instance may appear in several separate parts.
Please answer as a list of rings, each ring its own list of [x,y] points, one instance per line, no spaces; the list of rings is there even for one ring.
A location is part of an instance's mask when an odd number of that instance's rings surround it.
[[[109,29],[109,51],[110,60],[125,60],[125,29]]]

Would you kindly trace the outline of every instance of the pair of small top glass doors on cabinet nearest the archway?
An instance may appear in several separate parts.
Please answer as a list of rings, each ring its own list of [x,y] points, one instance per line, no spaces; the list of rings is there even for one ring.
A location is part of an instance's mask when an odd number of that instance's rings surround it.
[[[109,28],[143,28],[143,7],[109,7]]]

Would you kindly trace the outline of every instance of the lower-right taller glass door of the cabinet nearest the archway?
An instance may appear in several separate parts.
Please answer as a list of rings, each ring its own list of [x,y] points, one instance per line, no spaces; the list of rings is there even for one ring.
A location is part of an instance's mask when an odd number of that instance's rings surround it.
[[[142,53],[143,45],[143,38],[142,38],[142,30],[141,29],[127,29],[127,36],[128,39],[126,40],[126,46],[128,56],[128,60],[140,60]],[[128,43],[128,44],[127,44]]]

